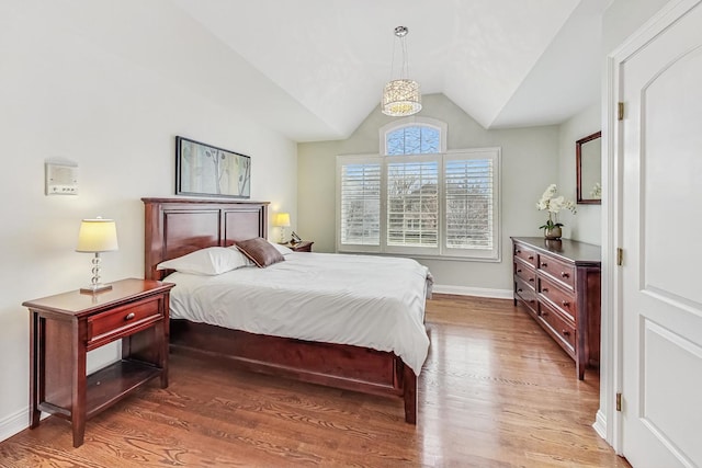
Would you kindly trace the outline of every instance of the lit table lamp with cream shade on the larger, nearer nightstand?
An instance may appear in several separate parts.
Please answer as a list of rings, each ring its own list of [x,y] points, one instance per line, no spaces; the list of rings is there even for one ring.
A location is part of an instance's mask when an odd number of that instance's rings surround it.
[[[94,294],[112,289],[109,284],[100,283],[100,253],[117,250],[117,228],[112,219],[83,219],[78,231],[76,252],[94,253],[92,259],[92,279],[90,286],[81,287],[83,294]]]

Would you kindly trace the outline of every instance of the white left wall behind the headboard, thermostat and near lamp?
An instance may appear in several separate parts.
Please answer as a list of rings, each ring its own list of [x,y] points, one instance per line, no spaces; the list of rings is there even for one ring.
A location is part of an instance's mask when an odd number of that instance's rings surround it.
[[[102,5],[113,13],[113,3]],[[48,2],[0,4],[0,440],[29,422],[29,312],[21,303],[89,283],[90,255],[73,251],[86,217],[117,224],[120,251],[103,255],[103,279],[143,277],[140,197],[174,193],[176,135],[251,156],[251,198],[296,216],[294,142],[203,95],[196,82],[179,84],[77,33],[76,16],[63,11]],[[184,41],[200,31],[178,20],[188,26],[179,32]],[[113,34],[123,36],[111,39],[148,47],[133,24],[121,26]],[[211,39],[196,38],[190,49],[159,53],[182,57],[182,66],[190,56],[206,60]],[[216,64],[204,72],[217,72]],[[50,159],[78,163],[78,196],[44,195]],[[91,356],[93,364],[114,352]]]

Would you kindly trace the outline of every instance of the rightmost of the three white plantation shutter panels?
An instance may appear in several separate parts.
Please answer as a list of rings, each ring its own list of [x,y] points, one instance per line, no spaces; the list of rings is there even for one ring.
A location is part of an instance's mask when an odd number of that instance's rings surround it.
[[[496,164],[490,151],[446,156],[446,249],[496,250]]]

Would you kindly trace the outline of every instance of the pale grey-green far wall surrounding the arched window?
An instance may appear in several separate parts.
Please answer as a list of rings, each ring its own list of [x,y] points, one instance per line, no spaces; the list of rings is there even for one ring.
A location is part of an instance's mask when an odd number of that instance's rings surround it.
[[[443,94],[422,96],[420,116],[446,122],[448,149],[502,148],[502,260],[499,263],[421,260],[439,290],[509,296],[512,290],[510,236],[540,236],[545,221],[536,201],[558,181],[558,127],[486,130]],[[347,140],[301,144],[298,153],[298,226],[315,250],[335,251],[336,156],[377,153],[378,129],[390,122],[375,109]],[[575,156],[574,156],[575,158]],[[575,178],[575,175],[574,175]],[[573,194],[575,197],[575,189]],[[564,222],[569,222],[569,214]]]

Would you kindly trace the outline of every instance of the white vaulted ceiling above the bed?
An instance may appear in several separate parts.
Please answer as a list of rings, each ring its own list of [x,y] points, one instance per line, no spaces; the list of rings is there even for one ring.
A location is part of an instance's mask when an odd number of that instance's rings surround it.
[[[295,141],[347,138],[392,78],[486,128],[558,124],[598,102],[611,0],[54,0],[37,15]],[[398,58],[396,57],[396,65]],[[421,115],[421,113],[419,114]]]

